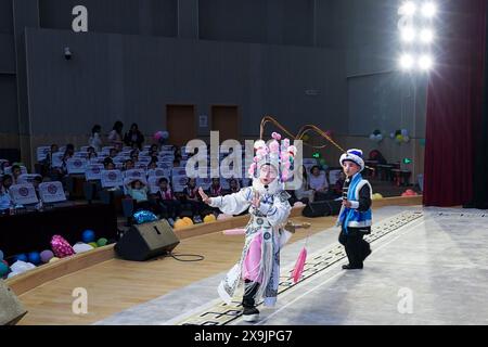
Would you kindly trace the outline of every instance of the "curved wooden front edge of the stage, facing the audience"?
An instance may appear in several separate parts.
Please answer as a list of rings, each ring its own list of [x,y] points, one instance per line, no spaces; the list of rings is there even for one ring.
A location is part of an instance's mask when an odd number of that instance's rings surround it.
[[[406,197],[386,197],[373,201],[373,208],[385,206],[416,206],[422,205],[422,195]],[[294,207],[291,218],[301,216],[304,207]],[[180,239],[189,239],[228,229],[242,228],[247,223],[248,216],[239,216],[226,220],[216,220],[209,223],[202,223],[192,227],[175,230]],[[18,274],[5,281],[16,295],[22,295],[49,281],[59,279],[69,273],[92,267],[100,262],[116,258],[114,245],[100,247],[84,254],[60,259],[52,264],[40,266],[34,270]]]

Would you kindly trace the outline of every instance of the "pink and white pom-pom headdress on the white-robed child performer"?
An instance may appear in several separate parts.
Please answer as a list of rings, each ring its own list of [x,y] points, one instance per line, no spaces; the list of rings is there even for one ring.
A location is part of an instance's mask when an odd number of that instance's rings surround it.
[[[295,159],[297,149],[290,144],[290,139],[281,140],[281,134],[278,132],[273,132],[271,138],[272,140],[268,144],[264,140],[254,143],[256,154],[248,169],[249,177],[256,177],[260,166],[270,164],[279,170],[280,181],[286,182],[290,179],[290,168]]]

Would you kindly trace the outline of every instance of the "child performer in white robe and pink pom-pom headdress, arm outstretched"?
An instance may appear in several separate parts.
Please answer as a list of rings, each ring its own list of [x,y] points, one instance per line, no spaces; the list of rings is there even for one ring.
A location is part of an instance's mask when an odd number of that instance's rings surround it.
[[[281,136],[273,133],[272,137],[274,140],[269,146],[262,140],[255,143],[256,156],[249,168],[252,187],[217,197],[208,197],[200,189],[202,200],[223,214],[239,215],[249,209],[251,220],[245,228],[241,259],[218,287],[220,297],[230,304],[237,287],[244,283],[242,304],[245,321],[259,318],[257,301],[264,299],[265,306],[274,306],[280,281],[280,249],[291,237],[291,233],[283,229],[292,209],[284,182],[296,147],[291,146],[287,139],[280,146]]]

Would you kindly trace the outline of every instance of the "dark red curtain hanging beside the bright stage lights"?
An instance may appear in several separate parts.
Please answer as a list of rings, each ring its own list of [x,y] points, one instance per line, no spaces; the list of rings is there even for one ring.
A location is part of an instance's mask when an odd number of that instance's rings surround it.
[[[473,200],[474,143],[481,124],[487,0],[439,1],[437,66],[427,97],[424,205]]]

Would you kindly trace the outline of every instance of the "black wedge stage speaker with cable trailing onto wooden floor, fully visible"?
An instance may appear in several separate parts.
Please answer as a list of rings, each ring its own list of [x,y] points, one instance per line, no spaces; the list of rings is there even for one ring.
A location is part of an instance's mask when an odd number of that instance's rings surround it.
[[[123,259],[143,261],[170,253],[180,241],[166,219],[132,226],[115,245]]]

